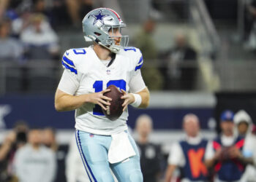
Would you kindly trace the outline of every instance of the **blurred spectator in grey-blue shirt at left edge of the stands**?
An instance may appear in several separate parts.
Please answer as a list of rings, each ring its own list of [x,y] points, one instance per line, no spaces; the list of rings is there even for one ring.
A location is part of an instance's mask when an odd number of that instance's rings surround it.
[[[23,47],[20,41],[10,37],[10,20],[0,21],[0,60],[20,60]]]

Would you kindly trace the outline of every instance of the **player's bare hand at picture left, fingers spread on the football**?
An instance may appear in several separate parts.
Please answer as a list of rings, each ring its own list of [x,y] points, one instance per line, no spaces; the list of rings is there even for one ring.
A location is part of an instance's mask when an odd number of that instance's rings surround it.
[[[89,100],[90,100],[89,102],[98,104],[106,111],[107,108],[105,108],[105,106],[110,106],[110,102],[108,102],[108,100],[111,101],[112,99],[104,96],[103,94],[109,91],[110,89],[106,89],[106,90],[102,90],[101,92],[91,93],[89,96]]]

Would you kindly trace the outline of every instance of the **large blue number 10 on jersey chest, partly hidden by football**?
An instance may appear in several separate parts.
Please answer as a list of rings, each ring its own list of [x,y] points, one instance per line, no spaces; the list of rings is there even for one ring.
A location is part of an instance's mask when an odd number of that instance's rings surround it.
[[[127,82],[125,82],[124,79],[110,80],[107,83],[107,87],[110,86],[111,84],[115,85],[120,90],[122,89],[122,90],[126,91]],[[94,88],[95,92],[101,92],[103,90],[103,81],[94,82],[93,88]],[[102,112],[102,108],[98,104],[95,105],[93,114],[98,115],[98,116],[104,116],[104,114]]]

